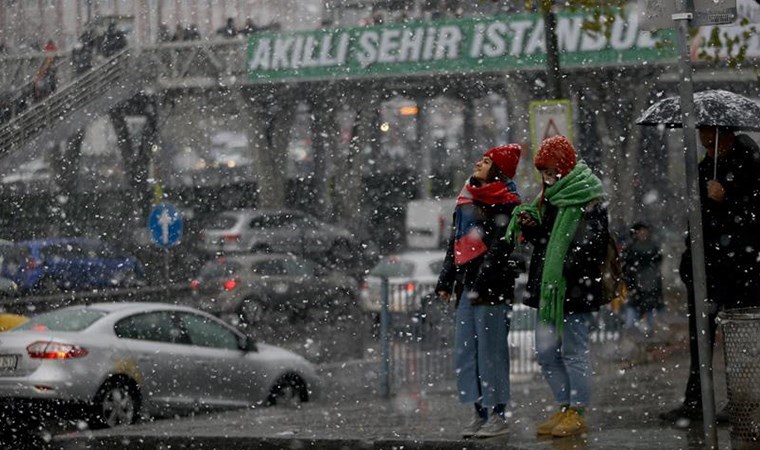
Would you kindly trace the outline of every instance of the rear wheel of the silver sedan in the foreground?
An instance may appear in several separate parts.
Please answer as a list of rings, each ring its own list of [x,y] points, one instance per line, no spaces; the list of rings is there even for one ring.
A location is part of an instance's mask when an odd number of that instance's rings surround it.
[[[137,421],[140,399],[137,387],[124,380],[108,380],[95,396],[94,425],[113,428]]]

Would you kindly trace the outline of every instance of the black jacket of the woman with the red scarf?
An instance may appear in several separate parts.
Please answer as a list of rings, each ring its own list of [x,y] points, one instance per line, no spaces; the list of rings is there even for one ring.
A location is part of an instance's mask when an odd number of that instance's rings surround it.
[[[477,292],[479,297],[471,299],[473,305],[496,305],[511,303],[514,298],[517,273],[509,255],[514,245],[503,239],[516,203],[486,205],[475,202],[478,208],[477,226],[483,231],[483,242],[488,251],[461,266],[454,264],[454,241],[456,235],[456,215],[451,229],[446,258],[438,277],[436,292],[446,291],[457,295],[465,287]],[[459,208],[459,207],[457,207]],[[457,285],[455,287],[455,284]]]

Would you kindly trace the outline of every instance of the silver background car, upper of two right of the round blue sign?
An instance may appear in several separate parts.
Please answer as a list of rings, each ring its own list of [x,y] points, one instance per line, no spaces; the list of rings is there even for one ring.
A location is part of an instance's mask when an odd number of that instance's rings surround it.
[[[278,252],[350,256],[354,236],[294,210],[239,209],[209,218],[202,225],[202,247],[214,252]]]

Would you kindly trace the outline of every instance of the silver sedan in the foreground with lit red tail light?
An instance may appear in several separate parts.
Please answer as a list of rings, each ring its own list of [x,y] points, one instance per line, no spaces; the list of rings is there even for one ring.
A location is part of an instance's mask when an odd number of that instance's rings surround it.
[[[74,306],[0,335],[0,401],[12,411],[85,412],[98,426],[140,414],[298,403],[315,398],[317,385],[304,358],[189,307]]]

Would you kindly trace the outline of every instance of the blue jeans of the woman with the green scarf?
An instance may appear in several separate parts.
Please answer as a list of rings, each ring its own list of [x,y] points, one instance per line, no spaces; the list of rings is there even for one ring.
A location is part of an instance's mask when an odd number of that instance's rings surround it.
[[[588,334],[591,313],[567,313],[562,336],[554,324],[536,321],[536,355],[559,405],[586,406],[591,397]]]

